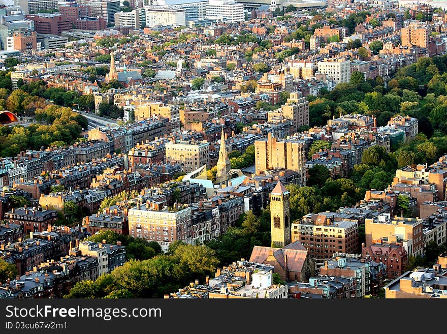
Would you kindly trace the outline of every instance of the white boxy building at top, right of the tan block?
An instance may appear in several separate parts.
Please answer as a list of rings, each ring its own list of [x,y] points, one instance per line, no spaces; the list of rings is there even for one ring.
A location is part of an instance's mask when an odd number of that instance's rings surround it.
[[[186,26],[184,8],[169,6],[145,6],[146,26],[179,25]]]

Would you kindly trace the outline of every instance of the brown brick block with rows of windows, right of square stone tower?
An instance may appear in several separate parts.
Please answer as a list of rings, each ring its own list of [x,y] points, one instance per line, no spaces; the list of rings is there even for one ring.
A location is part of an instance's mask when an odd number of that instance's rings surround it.
[[[359,223],[332,212],[308,214],[292,224],[292,242],[299,240],[317,265],[335,253],[357,254]]]

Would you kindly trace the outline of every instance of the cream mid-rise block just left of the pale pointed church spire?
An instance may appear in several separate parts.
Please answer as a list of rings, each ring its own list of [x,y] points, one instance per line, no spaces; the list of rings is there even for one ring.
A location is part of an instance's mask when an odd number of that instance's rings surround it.
[[[166,161],[171,164],[178,163],[183,172],[189,173],[209,163],[209,142],[207,141],[180,141],[168,142],[166,147]]]

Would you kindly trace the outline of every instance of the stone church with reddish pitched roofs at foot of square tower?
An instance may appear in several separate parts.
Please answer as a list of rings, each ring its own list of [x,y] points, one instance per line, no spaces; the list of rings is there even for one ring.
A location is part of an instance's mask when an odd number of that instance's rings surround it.
[[[249,261],[273,266],[283,281],[305,282],[315,275],[315,263],[299,241],[283,248],[254,246]]]

